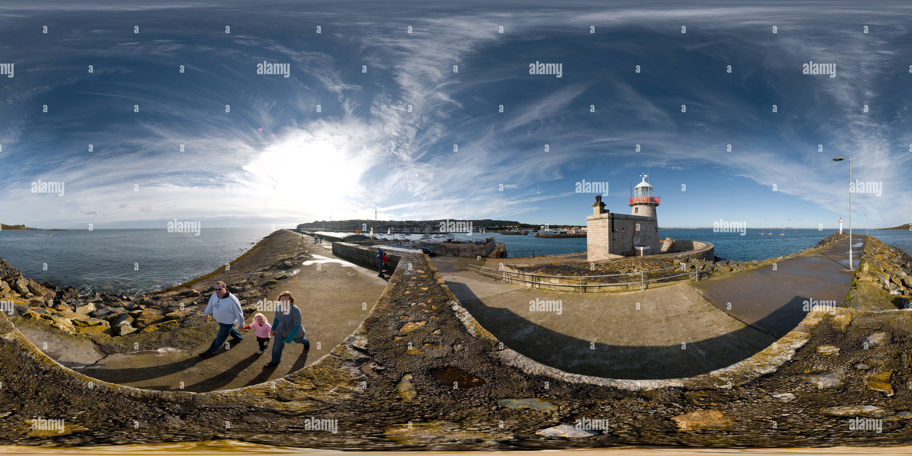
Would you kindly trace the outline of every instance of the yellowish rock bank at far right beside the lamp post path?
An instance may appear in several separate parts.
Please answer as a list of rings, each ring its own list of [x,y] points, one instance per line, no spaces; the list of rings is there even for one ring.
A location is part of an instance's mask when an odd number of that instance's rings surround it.
[[[912,301],[912,258],[875,237],[858,238],[865,247],[845,306],[875,311],[907,308]]]

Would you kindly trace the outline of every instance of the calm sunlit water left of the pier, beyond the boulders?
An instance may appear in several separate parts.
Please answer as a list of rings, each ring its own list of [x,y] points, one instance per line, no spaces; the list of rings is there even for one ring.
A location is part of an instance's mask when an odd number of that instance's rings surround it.
[[[198,236],[161,228],[2,231],[0,258],[38,282],[146,293],[208,274],[269,233],[269,227],[203,228]]]

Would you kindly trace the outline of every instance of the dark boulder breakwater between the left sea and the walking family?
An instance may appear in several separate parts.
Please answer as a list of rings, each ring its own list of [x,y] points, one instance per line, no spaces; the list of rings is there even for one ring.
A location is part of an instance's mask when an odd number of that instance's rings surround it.
[[[79,293],[26,279],[0,260],[0,298],[16,326],[50,332],[63,340],[88,339],[107,354],[174,347],[189,349],[214,337],[218,327],[202,315],[222,280],[237,295],[244,316],[255,313],[257,302],[295,275],[310,258],[295,233],[281,230],[212,273],[148,295]]]

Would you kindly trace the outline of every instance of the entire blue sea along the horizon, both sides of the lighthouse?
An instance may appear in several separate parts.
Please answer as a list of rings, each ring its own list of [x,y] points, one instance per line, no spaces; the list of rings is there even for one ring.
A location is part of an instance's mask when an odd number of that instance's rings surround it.
[[[141,294],[179,285],[232,261],[270,233],[263,228],[209,228],[193,233],[165,229],[0,231],[0,258],[28,278],[80,291]],[[660,229],[661,239],[715,244],[717,256],[736,261],[762,260],[813,247],[833,230],[767,230],[713,233],[707,229]],[[864,234],[865,231],[855,233]],[[912,232],[871,230],[886,244],[912,252]],[[47,234],[51,234],[47,236]],[[780,235],[783,234],[783,235]],[[390,236],[391,237],[391,236]],[[414,234],[411,238],[418,239]],[[459,233],[460,239],[494,237],[509,256],[586,252],[586,238],[541,238],[534,233]]]

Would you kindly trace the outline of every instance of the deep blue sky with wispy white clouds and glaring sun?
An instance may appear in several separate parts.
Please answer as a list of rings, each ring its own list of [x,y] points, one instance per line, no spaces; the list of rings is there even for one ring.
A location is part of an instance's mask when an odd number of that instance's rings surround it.
[[[912,222],[912,5],[427,4],[0,4],[0,222]]]

